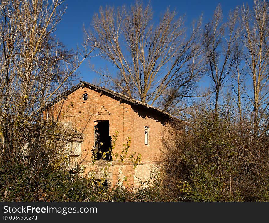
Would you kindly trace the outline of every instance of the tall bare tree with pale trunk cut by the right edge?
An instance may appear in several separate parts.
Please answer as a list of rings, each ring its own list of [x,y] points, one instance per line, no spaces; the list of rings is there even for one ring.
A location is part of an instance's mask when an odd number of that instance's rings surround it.
[[[253,10],[242,7],[242,42],[245,46],[245,63],[253,85],[252,96],[248,98],[253,105],[254,133],[257,136],[259,123],[266,111],[268,102],[268,5],[265,1],[255,0]],[[248,92],[249,93],[249,92]]]

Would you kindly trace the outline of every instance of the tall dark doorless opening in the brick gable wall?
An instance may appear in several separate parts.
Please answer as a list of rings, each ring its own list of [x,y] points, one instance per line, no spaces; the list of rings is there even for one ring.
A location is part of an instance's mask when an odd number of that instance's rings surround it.
[[[109,121],[99,121],[95,128],[95,152],[98,160],[111,160],[111,137],[109,136]],[[105,153],[105,154],[104,154]]]

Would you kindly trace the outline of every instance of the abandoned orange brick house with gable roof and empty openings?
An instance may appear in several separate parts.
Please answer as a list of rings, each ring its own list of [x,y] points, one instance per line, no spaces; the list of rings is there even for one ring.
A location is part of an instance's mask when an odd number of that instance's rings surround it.
[[[45,115],[57,118],[63,125],[76,128],[82,134],[83,139],[68,142],[72,147],[69,155],[71,167],[78,162],[85,167],[84,177],[95,173],[98,179],[102,177],[101,167],[110,162],[112,165],[105,176],[107,182],[113,186],[123,182],[123,185],[135,187],[139,186],[140,180],[149,178],[154,164],[160,161],[161,135],[172,119],[171,115],[157,108],[82,81],[57,97]],[[128,160],[114,162],[109,155],[101,160],[99,152],[109,150],[115,131],[118,131],[118,137],[114,153],[120,154],[127,137],[131,137],[128,153],[141,154],[141,163],[135,169]],[[98,156],[92,165],[94,151]]]

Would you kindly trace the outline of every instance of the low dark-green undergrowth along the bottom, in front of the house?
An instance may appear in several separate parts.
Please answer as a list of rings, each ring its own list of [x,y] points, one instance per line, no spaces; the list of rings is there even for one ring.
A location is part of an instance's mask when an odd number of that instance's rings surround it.
[[[0,165],[0,201],[164,201],[159,186],[109,188],[72,171],[31,172],[24,165]]]

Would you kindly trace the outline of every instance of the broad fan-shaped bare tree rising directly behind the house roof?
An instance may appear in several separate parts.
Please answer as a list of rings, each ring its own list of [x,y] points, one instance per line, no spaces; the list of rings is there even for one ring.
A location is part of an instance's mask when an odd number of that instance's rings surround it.
[[[173,92],[173,97],[184,97],[194,86],[190,83],[197,80],[201,66],[201,19],[193,22],[188,37],[184,18],[177,18],[175,11],[167,9],[159,24],[153,24],[149,4],[144,7],[142,2],[136,2],[130,9],[116,10],[100,7],[88,38],[119,71],[117,77],[104,70],[96,72],[121,93],[157,105],[160,96]]]

